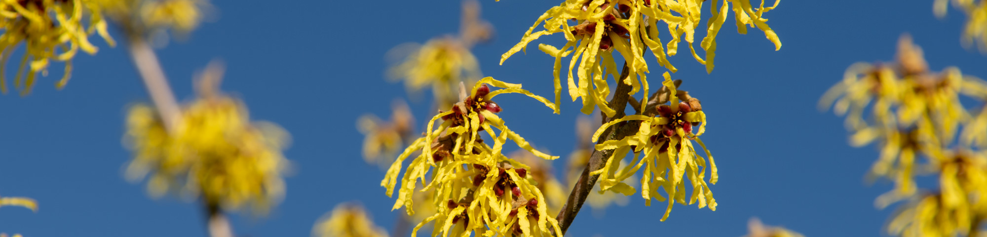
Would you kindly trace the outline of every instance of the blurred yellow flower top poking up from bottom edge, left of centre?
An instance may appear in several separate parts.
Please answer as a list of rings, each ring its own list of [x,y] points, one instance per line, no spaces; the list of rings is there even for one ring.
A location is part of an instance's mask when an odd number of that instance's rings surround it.
[[[331,215],[323,216],[312,229],[318,237],[387,237],[387,231],[374,224],[373,219],[356,203],[342,203]]]

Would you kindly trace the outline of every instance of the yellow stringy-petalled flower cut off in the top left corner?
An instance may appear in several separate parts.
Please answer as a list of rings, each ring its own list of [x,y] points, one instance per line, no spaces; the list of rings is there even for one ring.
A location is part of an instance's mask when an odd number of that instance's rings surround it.
[[[82,49],[89,54],[96,53],[97,47],[89,42],[90,35],[99,32],[104,40],[114,45],[100,8],[96,2],[88,0],[0,1],[0,28],[3,30],[0,35],[0,91],[7,91],[3,77],[7,59],[22,42],[27,49],[14,80],[21,95],[31,92],[38,72],[47,75],[51,60],[65,62],[65,74],[55,84],[59,89],[64,87],[71,75],[71,60],[76,52]]]

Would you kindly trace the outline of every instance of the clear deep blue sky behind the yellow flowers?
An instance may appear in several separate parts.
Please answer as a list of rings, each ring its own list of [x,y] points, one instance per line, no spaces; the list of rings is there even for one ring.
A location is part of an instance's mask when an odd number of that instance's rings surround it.
[[[497,61],[559,1],[482,0],[483,16],[496,29],[491,43],[474,50],[485,75],[549,97],[552,57],[532,48],[502,66]],[[367,113],[387,118],[391,101],[407,98],[404,85],[385,81],[384,53],[402,42],[455,33],[460,2],[213,3],[217,21],[160,51],[177,95],[190,98],[191,74],[224,58],[223,89],[241,96],[253,118],[277,122],[294,138],[285,152],[297,168],[287,178],[286,198],[266,218],[236,216],[237,233],[307,236],[319,216],[347,200],[360,200],[390,229],[401,212],[390,211],[394,200],[378,186],[383,172],[360,158],[355,119]],[[680,69],[673,77],[703,100],[709,117],[703,137],[721,172],[712,187],[718,210],[676,205],[659,222],[663,204],[645,207],[636,195],[602,219],[580,214],[569,236],[740,236],[750,216],[808,236],[883,235],[891,210],[874,209],[873,199],[891,186],[864,182],[876,150],[850,147],[843,119],[816,110],[819,96],[853,62],[891,60],[902,33],[924,47],[934,70],[956,65],[987,77],[987,56],[961,47],[964,17],[951,11],[948,19],[937,19],[931,0],[785,0],[766,17],[784,43],[780,51],[759,31],[736,34],[731,18],[712,74],[688,54],[671,57]],[[147,96],[123,48],[94,41],[99,54],[76,57],[64,90],[51,86],[60,75],[52,71],[31,96],[0,97],[0,196],[33,197],[40,204],[38,213],[0,208],[0,231],[204,236],[197,204],[152,199],[143,184],[122,179],[130,158],[120,145],[124,108]],[[562,37],[535,43],[561,44]],[[662,71],[652,68],[655,85]],[[429,110],[427,95],[421,99],[412,104],[419,121]],[[569,154],[577,103],[565,103],[562,115],[520,96],[498,97],[498,103],[512,129],[552,154]]]

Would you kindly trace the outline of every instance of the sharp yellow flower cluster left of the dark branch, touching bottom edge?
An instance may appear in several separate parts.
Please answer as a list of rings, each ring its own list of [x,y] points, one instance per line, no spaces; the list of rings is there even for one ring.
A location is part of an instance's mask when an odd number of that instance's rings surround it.
[[[488,85],[503,89],[491,91]],[[467,97],[461,85],[461,102],[431,118],[424,136],[412,142],[387,171],[381,186],[389,197],[398,185],[398,176],[403,176],[394,209],[404,206],[409,214],[415,213],[413,195],[420,180],[424,187],[418,192],[434,194],[431,204],[437,212],[422,220],[413,236],[432,221],[432,236],[470,236],[474,232],[478,236],[561,236],[544,195],[528,175],[531,167],[507,158],[501,151],[507,140],[512,140],[536,157],[553,160],[558,156],[535,150],[507,128],[503,119],[495,115],[501,109],[491,100],[499,94],[520,93],[549,108],[555,109],[554,105],[521,89],[519,84],[491,77],[478,81],[471,91]],[[434,122],[440,118],[442,122],[435,127]],[[484,142],[480,136],[483,131],[493,139],[493,146]],[[401,174],[404,160],[413,154],[417,156]],[[429,172],[430,177],[426,177]]]

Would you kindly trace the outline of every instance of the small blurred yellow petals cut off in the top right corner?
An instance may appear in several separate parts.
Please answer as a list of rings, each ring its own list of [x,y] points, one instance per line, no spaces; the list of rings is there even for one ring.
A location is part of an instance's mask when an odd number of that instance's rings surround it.
[[[949,2],[966,14],[963,26],[963,43],[976,41],[981,50],[987,50],[987,2],[982,0],[936,0],[933,6],[937,17],[946,17]]]

